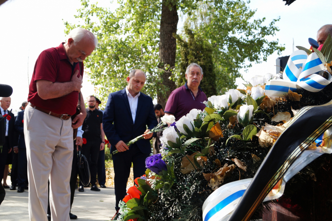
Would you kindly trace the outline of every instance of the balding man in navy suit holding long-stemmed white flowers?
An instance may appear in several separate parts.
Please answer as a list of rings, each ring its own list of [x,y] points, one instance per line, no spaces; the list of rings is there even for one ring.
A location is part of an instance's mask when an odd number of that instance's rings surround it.
[[[126,80],[128,85],[123,90],[109,95],[103,117],[103,129],[112,145],[111,153],[115,150],[120,152],[112,155],[116,210],[126,195],[131,163],[134,178],[145,174],[145,159],[151,153],[149,140],[153,135],[146,133],[158,124],[152,98],[140,92],[146,80],[145,73],[134,69]],[[125,144],[142,134],[144,139],[129,147]]]

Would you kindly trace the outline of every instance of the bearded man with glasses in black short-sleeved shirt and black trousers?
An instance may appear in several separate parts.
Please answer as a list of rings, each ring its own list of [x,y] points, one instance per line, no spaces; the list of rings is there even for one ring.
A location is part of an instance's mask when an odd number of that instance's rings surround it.
[[[96,109],[96,98],[90,95],[87,100],[88,108],[86,109],[87,115],[84,119],[82,130],[83,141],[86,139],[86,144],[83,143],[83,155],[89,162],[90,167],[90,184],[91,190],[100,191],[96,186],[97,180],[97,162],[100,150],[105,148],[105,133],[103,130],[103,112]],[[80,183],[78,191],[83,192],[83,184]]]

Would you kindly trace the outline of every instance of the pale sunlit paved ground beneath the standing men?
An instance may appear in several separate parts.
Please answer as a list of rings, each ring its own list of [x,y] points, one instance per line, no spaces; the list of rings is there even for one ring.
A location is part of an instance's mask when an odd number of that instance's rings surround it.
[[[10,185],[10,176],[7,184]],[[101,188],[100,192],[84,188],[84,192],[75,191],[71,212],[80,221],[111,220],[115,214],[114,188]],[[0,206],[1,221],[29,221],[28,192],[18,193],[6,189],[5,200]]]

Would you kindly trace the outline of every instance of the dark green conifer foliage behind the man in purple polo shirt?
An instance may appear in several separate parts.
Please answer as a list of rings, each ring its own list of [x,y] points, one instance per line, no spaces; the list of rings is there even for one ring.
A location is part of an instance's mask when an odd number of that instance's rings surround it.
[[[187,41],[181,39],[179,35],[177,37],[177,43],[179,46],[179,61],[177,85],[184,85],[187,81],[185,73],[190,63],[197,63],[203,69],[203,80],[201,81],[201,88],[210,97],[216,94],[216,76],[213,65],[213,48],[209,42],[202,38],[199,34],[194,34],[192,30],[185,28],[184,37]]]

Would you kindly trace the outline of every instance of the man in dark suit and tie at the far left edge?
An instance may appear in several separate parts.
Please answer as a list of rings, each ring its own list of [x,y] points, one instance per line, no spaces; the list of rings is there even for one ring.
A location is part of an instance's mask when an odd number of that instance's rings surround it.
[[[9,113],[9,106],[11,103],[11,98],[10,97],[1,97],[0,98],[0,110],[1,110],[1,115],[5,116]],[[12,159],[8,157],[8,154],[10,154],[13,150],[14,146],[17,146],[17,140],[15,139],[15,132],[14,132],[14,114],[10,113],[5,121],[5,143],[2,146],[2,151],[0,152],[0,177],[1,180],[3,180],[3,187],[5,189],[9,189],[10,187],[7,185],[6,179],[8,176],[8,165],[11,164]],[[10,155],[13,157],[12,155]],[[7,170],[5,170],[5,167],[7,167]]]

